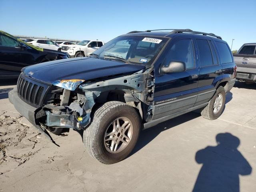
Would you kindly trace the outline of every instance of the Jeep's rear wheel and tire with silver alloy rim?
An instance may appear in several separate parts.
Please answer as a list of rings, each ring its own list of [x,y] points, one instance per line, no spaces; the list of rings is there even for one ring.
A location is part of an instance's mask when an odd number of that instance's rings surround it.
[[[225,89],[224,87],[219,86],[214,96],[208,102],[208,105],[201,109],[202,117],[209,120],[217,119],[223,112],[225,101]]]

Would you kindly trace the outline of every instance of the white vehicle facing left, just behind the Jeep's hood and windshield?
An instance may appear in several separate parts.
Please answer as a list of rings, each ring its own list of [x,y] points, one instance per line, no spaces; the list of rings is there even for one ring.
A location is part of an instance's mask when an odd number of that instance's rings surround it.
[[[102,45],[103,41],[83,40],[76,45],[62,46],[61,51],[68,53],[70,57],[87,57]]]

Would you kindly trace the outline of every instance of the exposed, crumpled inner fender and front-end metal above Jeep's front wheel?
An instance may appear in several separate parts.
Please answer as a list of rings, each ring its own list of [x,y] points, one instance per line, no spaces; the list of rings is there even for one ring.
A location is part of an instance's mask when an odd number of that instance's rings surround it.
[[[135,74],[122,76],[118,78],[102,80],[97,82],[85,82],[80,84],[78,89],[84,94],[83,106],[72,102],[69,106],[62,106],[65,110],[61,111],[46,111],[46,125],[53,128],[75,128],[81,130],[86,128],[91,121],[91,112],[96,100],[99,96],[109,91],[124,92],[126,103],[139,103],[139,111],[142,113],[140,102],[147,102],[145,94],[147,72],[137,72]],[[102,95],[101,95],[102,94]],[[49,108],[49,106],[44,106]],[[63,111],[67,111],[63,113]],[[76,115],[78,114],[78,115]]]

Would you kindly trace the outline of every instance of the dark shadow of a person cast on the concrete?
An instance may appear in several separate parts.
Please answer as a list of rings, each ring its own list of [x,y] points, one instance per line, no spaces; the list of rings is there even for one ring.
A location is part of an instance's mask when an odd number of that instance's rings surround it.
[[[249,175],[252,167],[237,150],[240,140],[230,133],[216,136],[217,146],[208,146],[196,153],[196,162],[203,164],[193,192],[239,192],[239,175]]]

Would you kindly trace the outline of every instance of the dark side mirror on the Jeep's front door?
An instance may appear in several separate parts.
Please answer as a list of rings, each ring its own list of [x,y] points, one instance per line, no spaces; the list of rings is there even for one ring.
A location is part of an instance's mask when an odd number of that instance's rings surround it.
[[[160,68],[160,73],[178,73],[186,71],[186,65],[181,61],[171,61],[167,66],[162,65]]]

